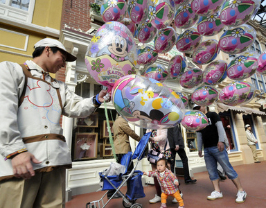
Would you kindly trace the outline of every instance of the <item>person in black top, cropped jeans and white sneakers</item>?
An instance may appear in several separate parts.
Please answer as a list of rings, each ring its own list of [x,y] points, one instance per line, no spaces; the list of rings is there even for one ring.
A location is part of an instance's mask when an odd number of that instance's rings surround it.
[[[216,112],[208,112],[206,107],[195,105],[193,110],[199,110],[206,114],[209,123],[203,130],[197,131],[197,146],[199,150],[199,157],[202,155],[202,144],[204,146],[204,160],[207,171],[209,173],[210,180],[213,184],[214,191],[211,196],[208,196],[208,200],[216,200],[223,198],[220,190],[220,177],[217,171],[217,162],[220,163],[224,169],[227,177],[232,180],[233,184],[238,189],[236,195],[236,202],[245,202],[247,193],[242,189],[238,173],[233,169],[229,162],[229,157],[226,148],[224,148],[224,128],[220,116]]]

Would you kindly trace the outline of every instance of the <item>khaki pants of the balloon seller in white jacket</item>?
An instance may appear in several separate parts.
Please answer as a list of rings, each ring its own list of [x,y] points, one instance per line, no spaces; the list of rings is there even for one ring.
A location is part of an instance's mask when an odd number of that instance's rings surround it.
[[[65,203],[64,168],[37,173],[23,180],[14,178],[0,182],[0,207],[3,208],[62,208]]]

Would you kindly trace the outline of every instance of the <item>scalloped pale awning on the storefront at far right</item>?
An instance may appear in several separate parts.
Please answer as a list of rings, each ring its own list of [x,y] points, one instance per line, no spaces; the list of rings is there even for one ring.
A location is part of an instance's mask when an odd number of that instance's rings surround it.
[[[260,110],[254,110],[251,107],[236,107],[236,106],[229,106],[229,105],[224,105],[224,103],[217,103],[218,106],[218,111],[219,112],[224,112],[228,110],[233,110],[236,111],[238,114],[255,114],[257,116],[266,116],[265,112],[262,112]]]

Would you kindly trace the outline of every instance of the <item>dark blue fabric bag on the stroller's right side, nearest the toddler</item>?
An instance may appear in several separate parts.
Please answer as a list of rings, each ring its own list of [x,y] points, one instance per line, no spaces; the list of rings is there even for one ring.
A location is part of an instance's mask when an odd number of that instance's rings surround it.
[[[145,193],[143,190],[141,176],[143,173],[141,171],[134,171],[134,175],[127,180],[127,193],[125,195],[130,200],[136,200],[138,198],[145,197]]]

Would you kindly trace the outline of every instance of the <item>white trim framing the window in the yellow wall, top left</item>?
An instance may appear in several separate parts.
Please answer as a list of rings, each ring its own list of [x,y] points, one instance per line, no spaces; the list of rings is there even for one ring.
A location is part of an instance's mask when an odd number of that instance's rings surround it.
[[[33,21],[35,0],[30,0],[28,11],[9,6],[10,1],[12,0],[6,0],[6,3],[0,3],[0,17],[26,23],[31,23]]]

